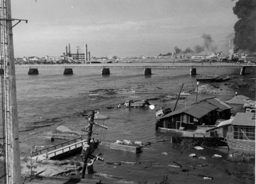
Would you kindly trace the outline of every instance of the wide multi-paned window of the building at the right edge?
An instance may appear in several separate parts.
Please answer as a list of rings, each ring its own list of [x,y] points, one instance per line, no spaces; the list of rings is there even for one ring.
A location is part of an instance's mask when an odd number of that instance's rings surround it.
[[[255,127],[234,126],[233,133],[236,140],[255,140]]]

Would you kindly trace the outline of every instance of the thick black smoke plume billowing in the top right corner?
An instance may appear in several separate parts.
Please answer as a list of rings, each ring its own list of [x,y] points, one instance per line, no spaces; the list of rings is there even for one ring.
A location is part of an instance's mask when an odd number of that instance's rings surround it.
[[[234,25],[234,52],[256,51],[256,1],[239,0],[233,7],[239,20]]]

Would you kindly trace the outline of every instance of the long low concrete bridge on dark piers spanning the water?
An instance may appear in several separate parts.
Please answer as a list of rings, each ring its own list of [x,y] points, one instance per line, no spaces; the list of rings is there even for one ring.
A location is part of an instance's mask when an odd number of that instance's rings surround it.
[[[102,75],[110,75],[110,69],[142,69],[144,75],[151,75],[151,69],[173,69],[187,68],[190,75],[196,75],[196,69],[206,67],[229,67],[240,69],[240,75],[245,75],[246,67],[255,67],[256,65],[237,64],[237,63],[96,63],[96,64],[25,64],[16,65],[19,67],[27,67],[28,75],[39,75],[39,69],[48,69],[52,67],[63,68],[63,75],[73,75],[73,69],[99,69]]]

